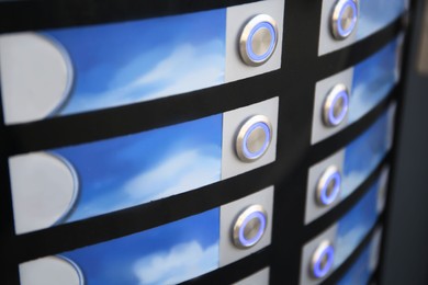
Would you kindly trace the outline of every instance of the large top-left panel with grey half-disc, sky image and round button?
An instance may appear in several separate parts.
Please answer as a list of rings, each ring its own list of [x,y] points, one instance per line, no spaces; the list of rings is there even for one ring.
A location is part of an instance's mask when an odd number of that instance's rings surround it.
[[[283,12],[283,0],[259,1],[148,20],[1,35],[4,122],[123,106],[279,69]],[[259,14],[264,18],[256,18]],[[254,41],[269,38],[266,50],[252,50]],[[243,41],[247,52],[237,48]],[[244,60],[248,53],[255,62]]]

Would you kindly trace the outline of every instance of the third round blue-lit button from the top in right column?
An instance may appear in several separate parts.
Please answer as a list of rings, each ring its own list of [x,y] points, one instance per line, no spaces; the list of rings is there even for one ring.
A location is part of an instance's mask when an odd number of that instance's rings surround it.
[[[339,196],[341,175],[337,167],[331,166],[324,171],[316,187],[316,202],[320,206],[328,206]]]

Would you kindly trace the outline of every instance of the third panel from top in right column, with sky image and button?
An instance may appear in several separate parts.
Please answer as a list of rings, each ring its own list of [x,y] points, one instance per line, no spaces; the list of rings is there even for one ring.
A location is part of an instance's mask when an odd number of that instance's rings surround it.
[[[392,104],[352,142],[309,168],[305,225],[348,197],[382,162],[392,146],[394,115]]]

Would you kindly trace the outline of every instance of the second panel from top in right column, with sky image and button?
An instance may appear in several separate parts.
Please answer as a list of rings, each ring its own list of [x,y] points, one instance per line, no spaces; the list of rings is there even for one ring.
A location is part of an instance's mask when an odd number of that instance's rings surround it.
[[[316,83],[312,145],[357,122],[391,93],[399,80],[402,47],[403,35],[354,67]]]

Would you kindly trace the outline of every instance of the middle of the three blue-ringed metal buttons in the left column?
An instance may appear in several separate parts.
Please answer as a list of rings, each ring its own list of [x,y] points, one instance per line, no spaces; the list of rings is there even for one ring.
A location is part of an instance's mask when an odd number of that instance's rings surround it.
[[[256,115],[240,127],[236,138],[236,153],[241,161],[261,158],[272,140],[272,125],[268,117]]]

